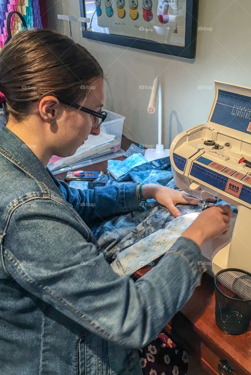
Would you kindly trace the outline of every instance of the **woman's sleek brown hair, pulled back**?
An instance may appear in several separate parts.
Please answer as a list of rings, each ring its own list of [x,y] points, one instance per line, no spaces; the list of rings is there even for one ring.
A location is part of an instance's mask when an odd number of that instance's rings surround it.
[[[91,53],[56,31],[20,31],[0,52],[5,111],[18,122],[30,113],[31,101],[53,95],[74,103],[100,77],[103,70]]]

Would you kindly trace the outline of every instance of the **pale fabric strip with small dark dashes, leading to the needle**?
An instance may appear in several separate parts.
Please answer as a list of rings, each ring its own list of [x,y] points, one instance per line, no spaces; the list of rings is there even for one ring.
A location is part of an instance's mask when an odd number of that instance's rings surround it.
[[[132,275],[140,268],[151,264],[168,252],[186,228],[198,217],[200,212],[176,217],[165,228],[149,234],[144,239],[120,252],[111,267],[119,276]]]

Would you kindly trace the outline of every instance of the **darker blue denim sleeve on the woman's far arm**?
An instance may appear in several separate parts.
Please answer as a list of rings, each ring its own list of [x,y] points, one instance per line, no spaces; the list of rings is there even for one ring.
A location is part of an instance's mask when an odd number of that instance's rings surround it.
[[[136,183],[80,190],[69,187],[64,181],[57,180],[57,182],[67,202],[73,205],[85,222],[140,209]]]

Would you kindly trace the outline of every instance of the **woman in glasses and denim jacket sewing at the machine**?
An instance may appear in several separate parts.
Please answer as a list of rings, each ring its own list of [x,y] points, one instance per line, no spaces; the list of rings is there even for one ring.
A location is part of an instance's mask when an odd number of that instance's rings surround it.
[[[119,277],[88,223],[139,210],[137,184],[80,191],[46,168],[100,133],[100,65],[68,37],[21,31],[0,53],[0,90],[1,374],[142,374],[136,349],[200,284],[200,247],[228,230],[230,208],[201,213],[137,282]],[[175,216],[175,204],[198,203],[158,184],[143,185],[142,197]]]

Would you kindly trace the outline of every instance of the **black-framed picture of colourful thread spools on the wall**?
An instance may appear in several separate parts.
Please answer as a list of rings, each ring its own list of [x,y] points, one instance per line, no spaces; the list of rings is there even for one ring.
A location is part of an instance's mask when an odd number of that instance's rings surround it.
[[[194,58],[198,0],[80,0],[83,37]]]

